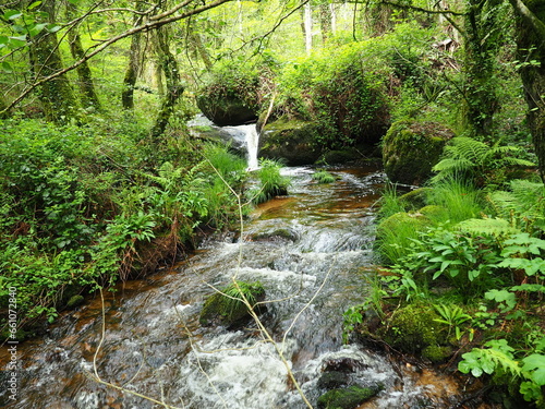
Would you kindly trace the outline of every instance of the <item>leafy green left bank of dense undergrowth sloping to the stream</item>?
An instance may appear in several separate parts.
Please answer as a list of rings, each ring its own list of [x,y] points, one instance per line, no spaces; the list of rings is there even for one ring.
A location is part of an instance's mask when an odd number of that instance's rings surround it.
[[[269,161],[244,194],[244,159],[183,129],[152,142],[134,118],[62,128],[5,120],[0,129],[2,337],[10,293],[22,339],[82,294],[171,263],[199,228],[239,220],[237,195],[244,203],[287,188]]]

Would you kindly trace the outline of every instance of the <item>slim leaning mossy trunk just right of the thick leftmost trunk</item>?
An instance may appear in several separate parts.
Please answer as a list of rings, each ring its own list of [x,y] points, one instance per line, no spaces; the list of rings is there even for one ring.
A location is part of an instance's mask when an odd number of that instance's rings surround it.
[[[72,20],[76,14],[76,7],[70,2],[66,2],[66,17]],[[68,39],[70,44],[70,52],[74,60],[82,60],[85,57],[85,51],[83,50],[82,39],[78,32],[80,25],[71,27],[68,32]],[[84,108],[94,107],[100,110],[100,100],[95,91],[95,84],[93,82],[93,74],[90,73],[90,68],[87,61],[80,64],[76,69],[77,72],[77,85],[81,92],[82,106]]]

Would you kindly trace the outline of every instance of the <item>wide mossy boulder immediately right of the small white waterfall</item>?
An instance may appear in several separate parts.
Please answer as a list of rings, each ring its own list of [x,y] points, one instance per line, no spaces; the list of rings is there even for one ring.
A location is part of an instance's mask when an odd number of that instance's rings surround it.
[[[288,166],[312,165],[322,155],[315,144],[318,127],[314,122],[280,118],[267,122],[259,137],[259,156]]]

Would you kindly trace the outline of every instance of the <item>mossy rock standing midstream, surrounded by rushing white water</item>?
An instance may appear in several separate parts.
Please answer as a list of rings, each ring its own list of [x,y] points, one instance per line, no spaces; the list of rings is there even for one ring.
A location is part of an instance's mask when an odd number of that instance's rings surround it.
[[[237,281],[237,286],[232,284],[208,297],[201,311],[201,324],[233,327],[245,322],[251,315],[242,301],[241,292],[253,306],[265,299],[265,289],[261,282]]]

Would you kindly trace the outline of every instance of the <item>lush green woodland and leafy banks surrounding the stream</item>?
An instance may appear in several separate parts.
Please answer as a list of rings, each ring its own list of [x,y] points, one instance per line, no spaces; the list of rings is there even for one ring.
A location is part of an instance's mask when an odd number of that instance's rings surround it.
[[[543,0],[1,0],[0,311],[15,288],[39,336],[286,193],[274,154],[190,132],[237,100],[391,180],[347,341],[545,408],[544,95]]]

